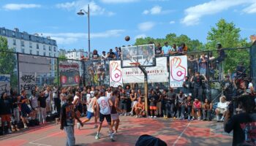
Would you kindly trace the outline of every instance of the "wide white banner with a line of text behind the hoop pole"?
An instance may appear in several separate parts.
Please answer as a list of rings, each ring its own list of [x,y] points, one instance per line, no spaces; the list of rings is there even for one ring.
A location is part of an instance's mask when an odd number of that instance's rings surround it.
[[[157,58],[156,64],[157,66],[154,67],[146,67],[148,82],[168,82],[167,58]],[[122,72],[124,83],[144,82],[144,74],[138,67],[124,68]]]

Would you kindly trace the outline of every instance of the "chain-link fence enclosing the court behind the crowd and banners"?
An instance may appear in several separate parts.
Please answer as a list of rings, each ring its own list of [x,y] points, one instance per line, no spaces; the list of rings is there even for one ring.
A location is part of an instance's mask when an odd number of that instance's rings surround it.
[[[207,50],[200,52],[188,52],[187,55],[187,76],[189,80],[196,72],[203,74],[206,80],[200,93],[204,98],[217,99],[222,93],[225,75],[230,81],[238,85],[241,80],[250,80],[252,76],[252,54],[250,49],[227,48],[222,50]],[[251,49],[252,52],[252,49]],[[179,54],[181,55],[181,54]],[[168,82],[148,83],[148,89],[167,89],[170,85],[170,58],[173,55],[159,55],[167,58]],[[70,85],[110,85],[110,60],[91,59],[89,61],[78,61],[72,59],[54,58],[39,55],[28,55],[11,53],[0,50],[0,74],[10,75],[10,86],[1,83],[1,90],[9,88],[20,91],[22,89],[31,91],[35,86],[39,88],[45,85],[65,87]],[[251,58],[250,58],[251,57]],[[143,83],[129,83],[135,89],[142,89]],[[193,85],[192,85],[193,86]],[[178,91],[182,88],[177,88]],[[192,87],[193,88],[193,87]],[[191,92],[193,93],[193,89]]]

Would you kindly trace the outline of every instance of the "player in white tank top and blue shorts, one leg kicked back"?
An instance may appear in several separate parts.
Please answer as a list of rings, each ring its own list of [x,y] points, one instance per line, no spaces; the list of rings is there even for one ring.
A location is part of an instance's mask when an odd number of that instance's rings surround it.
[[[83,120],[83,123],[89,122],[89,120],[91,120],[91,118],[94,116],[94,128],[97,128],[96,102],[97,99],[99,99],[99,96],[99,91],[94,91],[94,97],[89,100],[86,119]]]

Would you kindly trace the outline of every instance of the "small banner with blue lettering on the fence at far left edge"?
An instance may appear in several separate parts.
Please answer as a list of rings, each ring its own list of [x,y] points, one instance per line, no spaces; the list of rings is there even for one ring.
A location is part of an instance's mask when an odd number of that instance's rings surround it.
[[[10,74],[0,74],[0,95],[7,92],[10,95]]]

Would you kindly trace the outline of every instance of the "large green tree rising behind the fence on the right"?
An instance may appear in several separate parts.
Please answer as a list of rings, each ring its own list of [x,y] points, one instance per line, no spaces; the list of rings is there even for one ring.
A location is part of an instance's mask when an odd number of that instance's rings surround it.
[[[217,43],[222,44],[223,48],[249,47],[250,44],[246,42],[246,39],[241,38],[240,31],[234,23],[227,23],[226,20],[220,19],[216,27],[208,31],[206,48],[216,50]],[[249,66],[249,50],[226,50],[225,53],[227,54],[224,63],[225,72],[228,69],[234,71],[241,61],[245,66]]]

